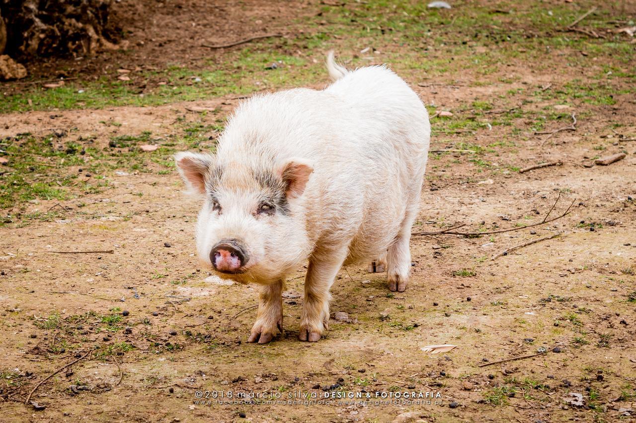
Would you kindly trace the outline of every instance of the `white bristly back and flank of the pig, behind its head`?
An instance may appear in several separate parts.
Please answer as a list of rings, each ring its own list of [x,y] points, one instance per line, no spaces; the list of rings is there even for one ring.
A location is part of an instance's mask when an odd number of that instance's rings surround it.
[[[310,161],[308,236],[322,246],[350,239],[347,261],[354,262],[377,258],[392,243],[421,189],[429,137],[417,95],[391,70],[366,67],[323,91],[247,100],[230,119],[218,157],[238,154],[272,168],[287,158]]]

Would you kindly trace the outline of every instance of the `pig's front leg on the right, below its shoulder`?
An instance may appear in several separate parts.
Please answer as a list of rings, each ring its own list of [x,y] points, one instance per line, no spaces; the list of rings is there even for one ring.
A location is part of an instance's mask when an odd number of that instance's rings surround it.
[[[298,339],[316,342],[321,339],[322,332],[328,329],[329,288],[338,274],[347,256],[347,248],[342,251],[322,251],[320,255],[312,255],[305,278],[305,302],[300,316],[300,332]]]

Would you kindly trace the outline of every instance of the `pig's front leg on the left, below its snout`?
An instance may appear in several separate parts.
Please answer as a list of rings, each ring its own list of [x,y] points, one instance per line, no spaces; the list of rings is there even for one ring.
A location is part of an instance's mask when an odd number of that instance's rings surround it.
[[[261,286],[258,314],[247,342],[266,344],[282,333],[282,286],[283,281]]]

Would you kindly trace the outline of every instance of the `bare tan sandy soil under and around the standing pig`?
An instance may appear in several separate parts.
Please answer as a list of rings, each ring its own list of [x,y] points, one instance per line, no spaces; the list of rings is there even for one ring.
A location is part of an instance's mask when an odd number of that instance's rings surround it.
[[[511,72],[518,82],[484,87],[410,82],[427,103],[443,103],[450,110],[484,97],[499,98],[497,107],[506,109],[515,105],[506,93],[516,86],[563,83],[555,74],[522,67]],[[326,76],[315,86],[324,83]],[[184,196],[175,171],[159,174],[162,167],[153,162],[142,172],[122,167],[102,175],[111,186],[105,191],[29,203],[25,213],[58,203],[64,210],[53,220],[0,228],[3,420],[633,418],[636,144],[620,142],[608,128],[621,123],[621,133],[636,133],[636,104],[633,95],[616,100],[614,106],[568,109],[591,117],[580,119],[576,131],[556,133],[545,143],[546,135],[534,135],[523,119],[515,122],[522,132],[514,144],[496,149],[488,146],[509,138],[502,126],[469,135],[434,134],[431,149],[471,142],[486,149],[480,159],[487,164],[470,161],[470,154],[462,152],[432,156],[414,232],[456,224],[477,231],[537,223],[559,196],[551,217],[573,203],[570,213],[533,227],[535,233],[414,236],[413,276],[404,293],[389,293],[385,274],[368,273],[366,265],[343,269],[333,285],[331,312],[347,312],[350,321],[331,321],[324,339],[313,344],[296,339],[303,269],[287,283],[284,334],[265,346],[245,343],[256,316],[257,292],[252,286],[224,285],[197,268],[193,229],[198,204]],[[64,142],[85,144],[91,135],[90,142],[105,147],[113,136],[151,131],[162,144],[181,134],[177,121],[214,123],[238,101],[227,97],[139,109],[11,114],[0,117],[0,137],[76,128]],[[216,112],[186,109],[193,105]],[[568,123],[549,124],[547,130]],[[599,144],[603,151],[595,151]],[[614,164],[583,166],[597,154],[623,150],[626,158]],[[554,159],[562,166],[509,170]],[[491,259],[506,248],[556,233],[562,236]],[[93,250],[104,253],[55,253]],[[420,351],[431,344],[457,348],[434,356]],[[543,349],[547,352],[534,358],[480,366]],[[88,351],[93,352],[81,358]],[[24,403],[38,382],[76,358],[81,359],[32,395],[43,410]],[[205,397],[205,391],[210,396],[221,391],[278,393],[282,399],[313,393],[320,400],[325,393],[368,392],[371,402],[195,403],[197,393]],[[441,398],[410,405],[373,403],[382,399],[375,393],[404,391],[439,393]],[[564,398],[574,398],[570,393],[582,394],[584,406],[567,405]]]

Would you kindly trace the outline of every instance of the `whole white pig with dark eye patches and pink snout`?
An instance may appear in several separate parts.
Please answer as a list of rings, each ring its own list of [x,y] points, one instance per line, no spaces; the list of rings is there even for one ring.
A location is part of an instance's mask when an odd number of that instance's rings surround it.
[[[344,265],[385,265],[389,290],[411,269],[431,137],[417,94],[386,65],[347,70],[328,54],[333,84],[254,95],[240,104],[216,152],[180,152],[200,196],[198,258],[220,278],[259,285],[247,342],[282,333],[286,276],[307,264],[299,339],[328,329],[329,288]]]

